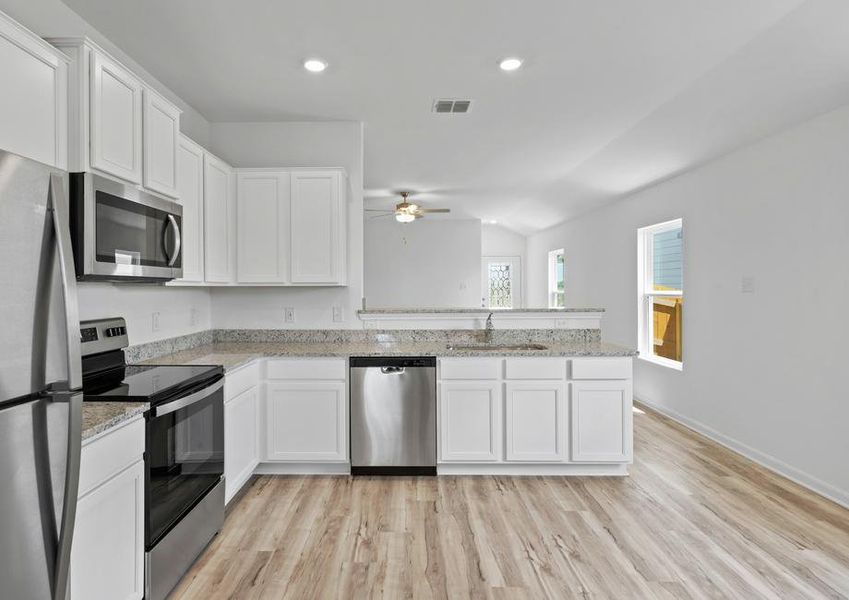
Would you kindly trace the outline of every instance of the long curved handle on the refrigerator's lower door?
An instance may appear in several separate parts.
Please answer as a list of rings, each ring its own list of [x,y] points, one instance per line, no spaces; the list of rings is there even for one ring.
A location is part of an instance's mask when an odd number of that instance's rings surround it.
[[[65,495],[62,497],[62,521],[59,526],[59,545],[56,552],[53,600],[66,600],[69,595],[71,546],[74,542],[74,524],[77,519],[80,455],[82,454],[83,395],[82,393],[62,394],[54,397],[54,401],[63,397],[66,397],[68,402],[68,464],[65,466]]]

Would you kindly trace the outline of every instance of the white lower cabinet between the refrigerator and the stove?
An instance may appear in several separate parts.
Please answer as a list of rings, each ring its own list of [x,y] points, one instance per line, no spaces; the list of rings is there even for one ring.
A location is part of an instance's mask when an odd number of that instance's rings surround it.
[[[144,597],[143,449],[141,418],[83,447],[72,600]]]

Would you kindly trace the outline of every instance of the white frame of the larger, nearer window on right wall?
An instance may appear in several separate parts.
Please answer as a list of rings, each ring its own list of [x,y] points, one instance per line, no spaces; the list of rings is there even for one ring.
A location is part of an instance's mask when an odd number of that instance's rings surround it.
[[[654,236],[659,233],[681,229],[681,290],[680,291],[656,291],[654,290]],[[653,344],[653,314],[652,306],[655,298],[684,298],[685,272],[684,272],[684,219],[677,218],[637,230],[637,344],[640,352],[639,358],[663,367],[684,370],[684,353],[682,348],[679,362],[654,353]],[[683,345],[683,328],[681,331],[681,343]]]

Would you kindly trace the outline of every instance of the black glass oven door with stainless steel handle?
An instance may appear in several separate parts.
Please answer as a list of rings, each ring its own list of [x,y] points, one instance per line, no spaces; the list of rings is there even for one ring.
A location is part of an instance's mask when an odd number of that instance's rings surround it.
[[[224,475],[224,379],[151,408],[147,421],[146,548]]]

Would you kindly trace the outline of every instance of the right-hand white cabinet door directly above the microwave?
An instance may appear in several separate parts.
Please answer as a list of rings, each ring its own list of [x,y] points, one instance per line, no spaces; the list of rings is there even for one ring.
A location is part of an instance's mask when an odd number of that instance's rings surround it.
[[[144,90],[144,187],[176,198],[180,110],[156,92]]]

